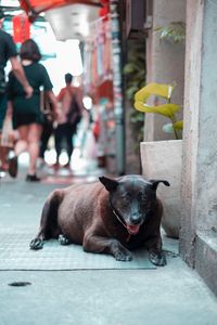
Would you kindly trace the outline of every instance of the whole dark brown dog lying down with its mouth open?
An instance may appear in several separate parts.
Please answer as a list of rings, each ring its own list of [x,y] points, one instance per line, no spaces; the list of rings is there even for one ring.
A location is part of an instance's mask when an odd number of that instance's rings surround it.
[[[59,238],[61,245],[79,244],[85,251],[130,261],[130,250],[145,247],[153,264],[165,265],[159,232],[163,206],[156,188],[161,182],[169,183],[135,174],[99,180],[53,191],[30,248],[40,249],[44,240]]]

